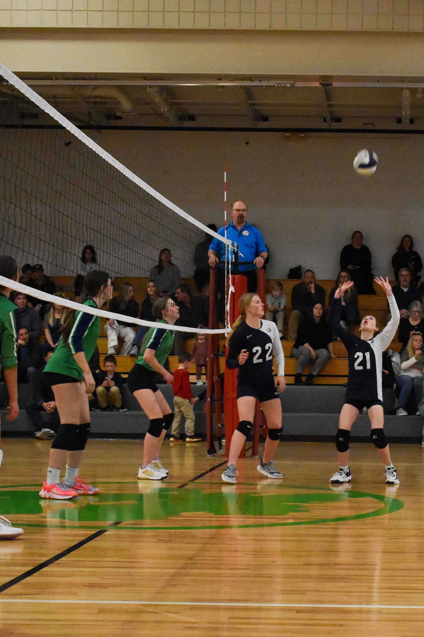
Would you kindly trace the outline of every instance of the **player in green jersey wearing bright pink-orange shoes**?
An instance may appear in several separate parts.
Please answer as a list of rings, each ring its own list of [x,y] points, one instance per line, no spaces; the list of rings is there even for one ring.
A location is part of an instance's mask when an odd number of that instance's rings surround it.
[[[92,270],[86,275],[79,303],[100,308],[112,296],[111,279],[106,272]],[[95,382],[88,361],[97,345],[100,317],[81,310],[67,310],[62,338],[44,368],[60,417],[60,427],[51,444],[47,477],[41,497],[65,500],[78,495],[99,493],[78,475],[81,457],[90,433],[88,394]],[[63,482],[60,471],[66,464]]]

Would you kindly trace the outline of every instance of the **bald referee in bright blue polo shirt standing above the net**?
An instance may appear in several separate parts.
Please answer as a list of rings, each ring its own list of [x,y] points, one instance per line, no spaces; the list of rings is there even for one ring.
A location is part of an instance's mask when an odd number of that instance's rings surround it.
[[[247,223],[247,205],[243,201],[235,201],[231,206],[231,224],[227,226],[227,238],[237,244],[241,254],[238,255],[239,268],[241,275],[247,277],[247,291],[256,292],[257,276],[256,268],[262,268],[268,250],[264,242],[264,238],[259,230]],[[224,226],[218,230],[218,234],[224,236]],[[225,245],[222,241],[214,239],[209,246],[209,265],[215,268],[219,261],[225,258]],[[232,258],[231,250],[228,254]],[[249,264],[243,265],[243,261],[250,261]],[[220,294],[220,303],[218,304],[218,320],[224,322],[225,315],[225,273],[224,265],[220,264],[217,276],[217,290]]]

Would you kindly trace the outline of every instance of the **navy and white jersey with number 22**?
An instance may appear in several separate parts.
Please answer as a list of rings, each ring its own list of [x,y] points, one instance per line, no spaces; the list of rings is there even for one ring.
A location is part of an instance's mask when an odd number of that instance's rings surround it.
[[[249,352],[243,365],[237,357],[242,350]],[[245,321],[240,324],[229,339],[227,357],[228,369],[238,369],[238,380],[247,385],[274,383],[273,358],[278,364],[278,376],[284,376],[284,352],[275,323],[261,320],[261,327],[250,327]]]

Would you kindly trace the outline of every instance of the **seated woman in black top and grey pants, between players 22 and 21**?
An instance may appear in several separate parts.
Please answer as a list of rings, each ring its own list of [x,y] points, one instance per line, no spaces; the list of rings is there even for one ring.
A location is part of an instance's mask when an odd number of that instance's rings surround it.
[[[313,306],[312,315],[299,323],[297,338],[292,348],[292,356],[297,358],[294,384],[302,385],[302,372],[306,365],[313,361],[313,368],[306,376],[304,384],[312,385],[332,353],[332,332],[325,322],[324,308],[320,303]]]

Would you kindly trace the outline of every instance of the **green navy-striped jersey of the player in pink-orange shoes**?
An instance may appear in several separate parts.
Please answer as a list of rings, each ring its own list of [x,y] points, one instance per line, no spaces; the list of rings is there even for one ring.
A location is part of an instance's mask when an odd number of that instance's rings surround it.
[[[97,304],[93,299],[87,299],[84,305],[97,308]],[[79,367],[73,355],[77,354],[77,352],[84,352],[86,360],[90,361],[97,345],[99,334],[100,317],[80,310],[76,311],[69,338],[66,342],[63,337],[60,338],[57,348],[50,361],[46,364],[44,371],[65,374],[78,378],[79,382],[83,382],[83,370]]]

